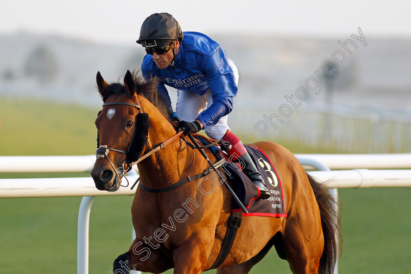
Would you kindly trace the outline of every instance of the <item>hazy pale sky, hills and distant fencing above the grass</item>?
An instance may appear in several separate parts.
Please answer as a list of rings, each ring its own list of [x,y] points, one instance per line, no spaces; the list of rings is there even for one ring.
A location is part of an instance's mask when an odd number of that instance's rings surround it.
[[[410,152],[411,4],[371,3],[17,0],[0,11],[0,96],[98,108],[96,72],[121,81],[127,69],[139,69],[140,25],[167,11],[184,31],[218,41],[239,69],[229,116],[234,131],[341,152]],[[347,39],[356,46],[345,44],[351,54],[339,44]],[[333,55],[345,59],[344,67]],[[334,62],[332,74],[324,73],[324,62]],[[298,100],[310,77],[320,93]],[[272,114],[282,119],[272,118],[277,128],[264,118]]]

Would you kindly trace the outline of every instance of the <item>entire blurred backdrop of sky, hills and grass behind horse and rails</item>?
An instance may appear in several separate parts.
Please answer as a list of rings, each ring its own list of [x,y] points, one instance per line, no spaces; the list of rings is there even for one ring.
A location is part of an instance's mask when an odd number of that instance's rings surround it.
[[[135,41],[141,23],[155,12],[171,13],[183,31],[206,33],[226,49],[240,74],[228,123],[243,141],[275,141],[293,153],[411,152],[410,1],[1,4],[1,156],[93,154],[93,123],[102,104],[95,75],[100,71],[117,82],[127,69],[140,68],[145,51]],[[361,35],[365,43],[355,38]],[[345,45],[351,54],[341,45],[347,39],[355,44]],[[326,66],[334,72],[324,73]],[[175,104],[175,91],[169,91]],[[90,175],[0,174],[45,176]],[[339,193],[340,273],[409,273],[411,220],[404,216],[410,215],[410,188]],[[128,249],[131,201],[95,199],[90,273],[107,273]],[[0,199],[0,246],[7,251],[1,269],[75,272],[79,203],[78,197]],[[273,271],[290,273],[275,251],[251,273]]]

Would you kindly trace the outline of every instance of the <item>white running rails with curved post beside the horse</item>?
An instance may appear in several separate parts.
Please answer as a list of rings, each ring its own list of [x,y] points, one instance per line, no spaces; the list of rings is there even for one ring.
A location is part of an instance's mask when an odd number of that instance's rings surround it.
[[[329,188],[344,187],[410,187],[411,154],[376,155],[296,155],[304,166],[317,170],[309,173]],[[0,157],[1,172],[84,172],[90,171],[95,156]],[[23,163],[23,164],[21,164]],[[330,169],[352,169],[335,170]],[[369,170],[386,168],[396,170]],[[116,192],[97,190],[90,178],[0,179],[0,198],[85,196],[78,216],[77,274],[88,274],[89,217],[94,196],[130,195],[137,172],[129,173],[131,182]],[[124,180],[124,179],[123,179]],[[337,195],[337,191],[332,191]],[[337,268],[335,273],[337,273]]]

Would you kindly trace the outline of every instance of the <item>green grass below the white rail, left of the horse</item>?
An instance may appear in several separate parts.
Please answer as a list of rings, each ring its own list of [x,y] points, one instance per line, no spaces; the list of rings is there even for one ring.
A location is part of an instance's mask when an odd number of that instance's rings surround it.
[[[81,197],[0,199],[1,273],[76,273]],[[94,198],[90,274],[107,273],[131,244],[131,196]]]

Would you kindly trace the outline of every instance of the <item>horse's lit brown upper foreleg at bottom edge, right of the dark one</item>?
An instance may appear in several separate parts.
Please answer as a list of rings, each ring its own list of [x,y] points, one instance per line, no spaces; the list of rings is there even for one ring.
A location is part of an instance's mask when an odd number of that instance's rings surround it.
[[[212,244],[213,238],[191,235],[183,246],[173,250],[174,274],[200,274],[206,271]]]

